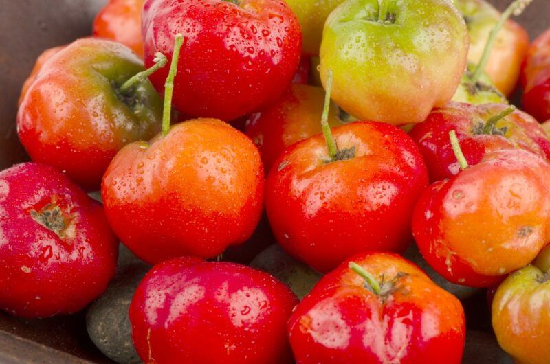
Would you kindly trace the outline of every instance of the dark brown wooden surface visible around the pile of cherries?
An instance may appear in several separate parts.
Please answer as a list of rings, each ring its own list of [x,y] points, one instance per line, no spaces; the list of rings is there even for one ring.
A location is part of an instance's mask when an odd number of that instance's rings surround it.
[[[0,0],[0,169],[25,160],[15,115],[23,80],[43,49],[90,34],[106,0]],[[500,10],[511,0],[492,1]],[[531,38],[550,27],[550,1],[535,0],[518,21]],[[510,363],[490,330],[483,296],[465,304],[469,334],[465,363]],[[483,332],[485,331],[485,332]],[[111,363],[91,343],[83,315],[25,321],[0,313],[0,363]]]

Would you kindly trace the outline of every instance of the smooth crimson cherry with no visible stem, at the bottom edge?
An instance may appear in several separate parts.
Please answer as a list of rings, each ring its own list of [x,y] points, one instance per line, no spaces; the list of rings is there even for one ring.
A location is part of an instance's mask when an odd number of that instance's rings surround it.
[[[292,363],[286,324],[296,304],[284,284],[248,266],[167,260],[135,291],[133,343],[146,363]]]

